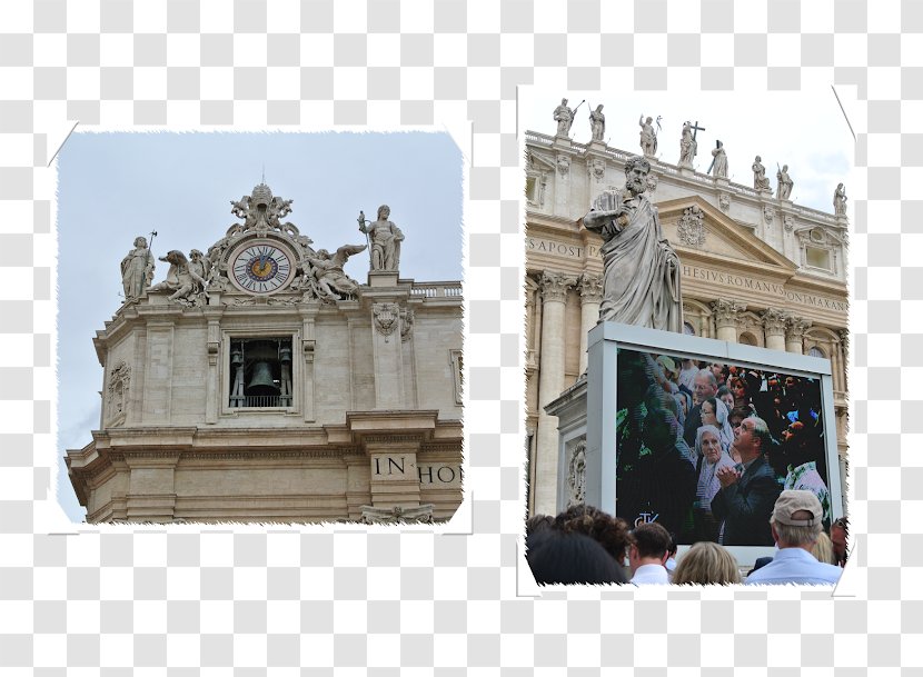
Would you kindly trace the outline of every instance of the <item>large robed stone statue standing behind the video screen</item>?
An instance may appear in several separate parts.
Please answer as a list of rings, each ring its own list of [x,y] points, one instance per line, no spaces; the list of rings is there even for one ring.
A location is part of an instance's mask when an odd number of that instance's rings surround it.
[[[679,259],[669,246],[657,208],[644,195],[651,163],[632,157],[625,188],[605,191],[584,217],[603,237],[603,302],[599,321],[683,331]]]

